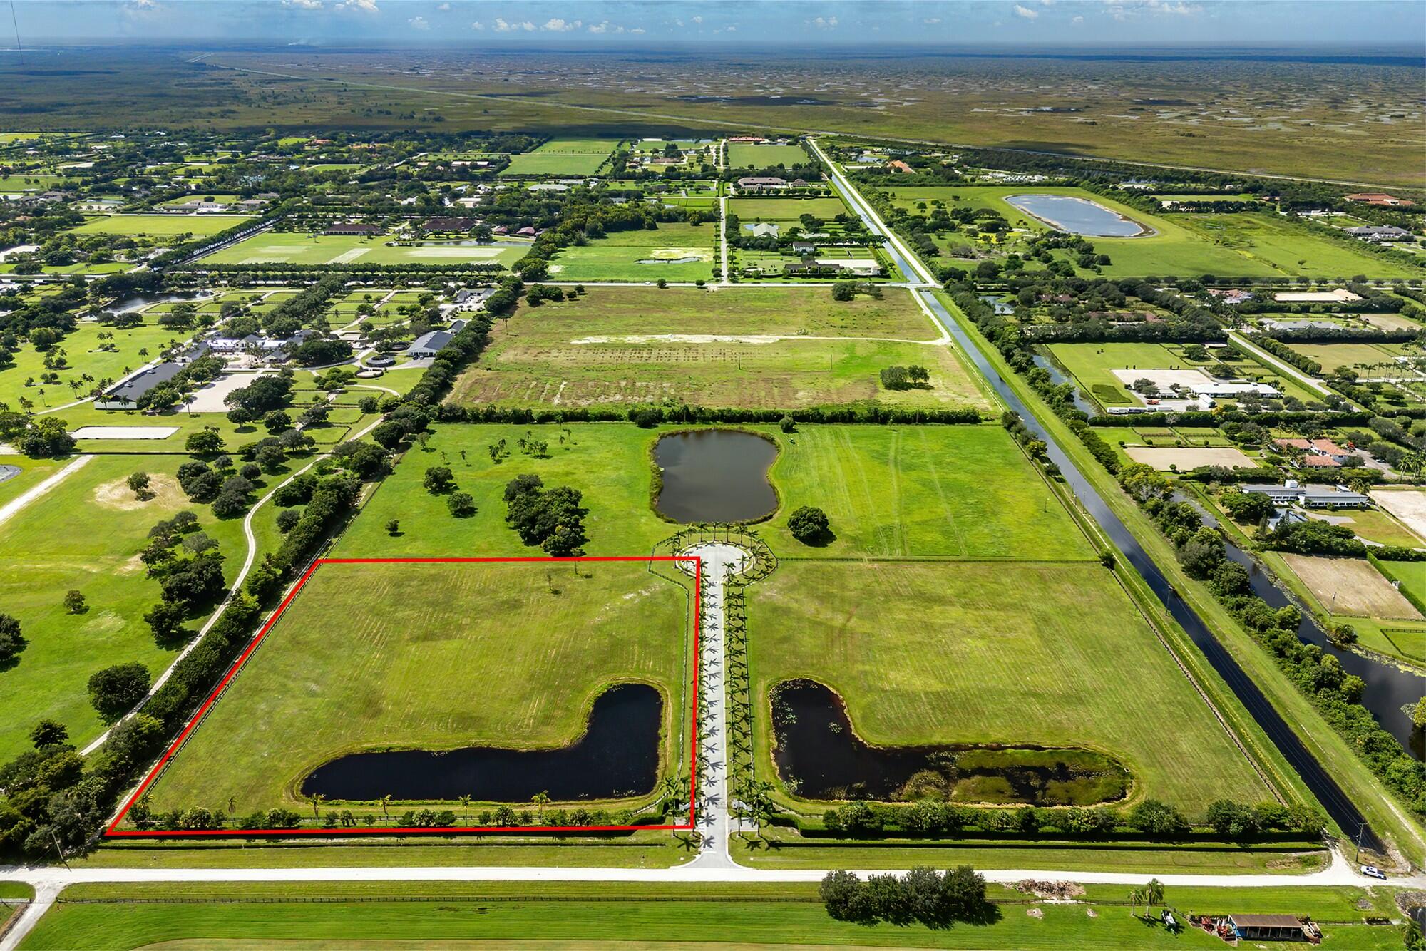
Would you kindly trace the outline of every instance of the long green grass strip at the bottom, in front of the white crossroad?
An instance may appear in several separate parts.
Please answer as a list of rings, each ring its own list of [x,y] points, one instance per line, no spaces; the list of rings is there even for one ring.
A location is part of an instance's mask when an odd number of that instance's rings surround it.
[[[1202,931],[1169,934],[1129,914],[1125,888],[1089,885],[1074,904],[1032,903],[1007,885],[987,924],[874,927],[831,920],[813,883],[258,883],[71,885],[21,942],[23,951],[137,947],[463,947],[475,941],[572,950],[684,945],[1024,948],[1214,948]],[[409,901],[421,895],[425,901]],[[1396,948],[1393,927],[1362,924],[1395,915],[1387,888],[1169,888],[1185,915],[1255,911],[1305,914],[1323,927],[1325,948]],[[68,898],[70,901],[66,901]],[[321,901],[309,901],[319,898]],[[348,901],[342,901],[347,898]],[[133,900],[138,900],[137,903]],[[148,901],[144,901],[148,900]],[[1012,904],[1014,903],[1014,904]],[[1027,914],[1030,910],[1038,914]],[[1363,908],[1366,908],[1363,911]],[[1144,914],[1142,908],[1139,914]],[[696,940],[690,941],[690,937]],[[617,944],[615,944],[617,942]]]

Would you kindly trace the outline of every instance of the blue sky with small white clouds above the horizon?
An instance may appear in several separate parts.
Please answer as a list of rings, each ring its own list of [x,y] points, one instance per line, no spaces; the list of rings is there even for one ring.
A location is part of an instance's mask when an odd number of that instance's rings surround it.
[[[896,44],[1426,44],[1422,0],[19,0],[23,43],[240,41],[472,48]],[[13,44],[0,7],[0,47]]]

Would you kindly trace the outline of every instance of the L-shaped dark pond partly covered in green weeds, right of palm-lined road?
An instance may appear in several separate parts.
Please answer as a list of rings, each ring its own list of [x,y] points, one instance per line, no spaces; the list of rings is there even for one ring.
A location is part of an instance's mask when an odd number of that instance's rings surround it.
[[[992,746],[867,746],[847,710],[814,680],[779,684],[773,761],[807,798],[1092,806],[1124,798],[1128,771],[1089,750]]]

